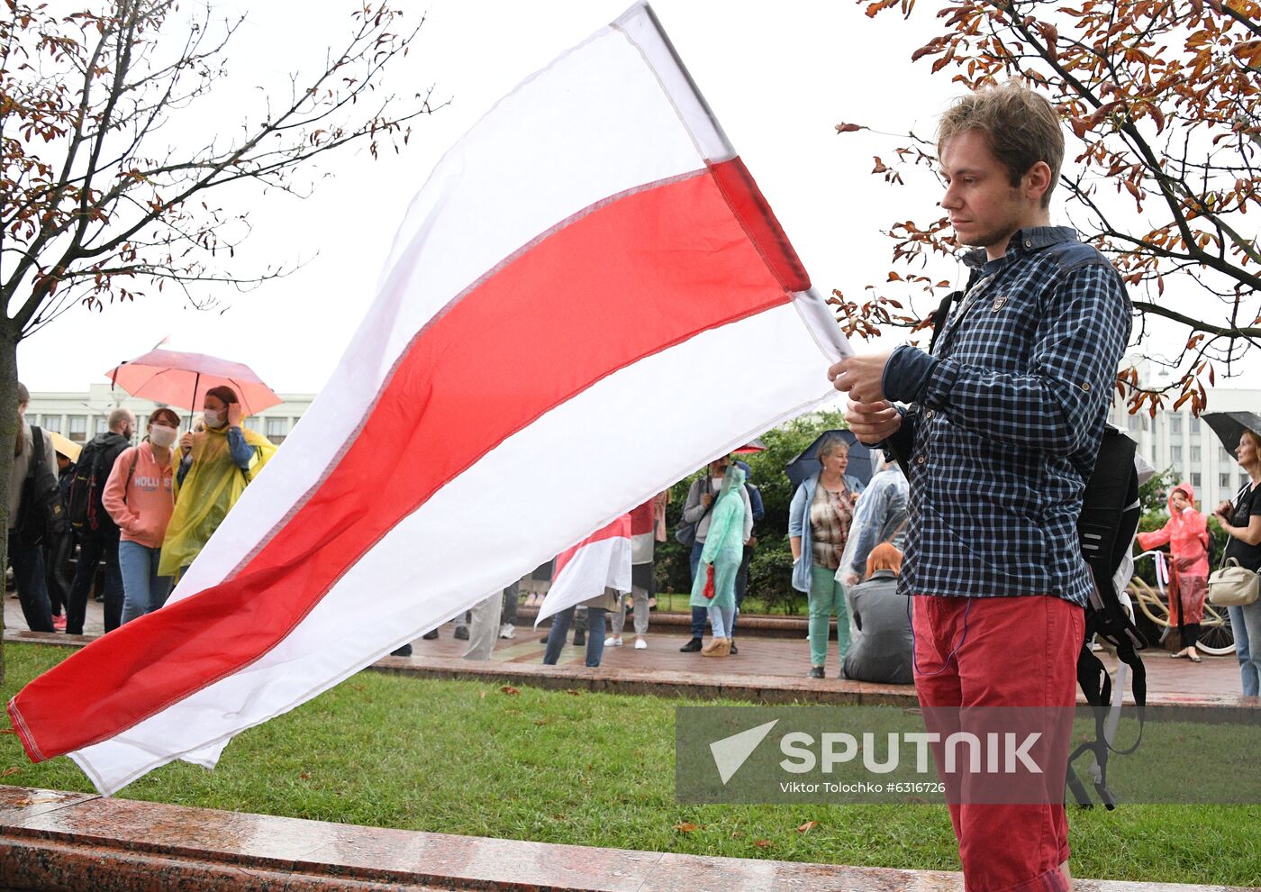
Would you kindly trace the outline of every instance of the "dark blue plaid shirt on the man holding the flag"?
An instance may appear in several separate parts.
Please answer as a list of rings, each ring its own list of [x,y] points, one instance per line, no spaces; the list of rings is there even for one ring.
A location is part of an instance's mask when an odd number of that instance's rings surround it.
[[[898,590],[1084,604],[1077,517],[1130,337],[1125,286],[1068,227],[965,262],[936,353],[899,347],[884,372],[889,399],[912,404],[888,444],[909,458]]]

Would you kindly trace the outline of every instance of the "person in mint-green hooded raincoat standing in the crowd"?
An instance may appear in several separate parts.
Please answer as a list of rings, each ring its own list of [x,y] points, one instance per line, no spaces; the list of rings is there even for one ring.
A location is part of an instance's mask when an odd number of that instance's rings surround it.
[[[728,656],[735,622],[735,577],[744,559],[744,543],[753,535],[753,513],[744,497],[744,472],[731,466],[714,503],[701,563],[692,583],[692,607],[707,607],[714,637],[702,656]]]

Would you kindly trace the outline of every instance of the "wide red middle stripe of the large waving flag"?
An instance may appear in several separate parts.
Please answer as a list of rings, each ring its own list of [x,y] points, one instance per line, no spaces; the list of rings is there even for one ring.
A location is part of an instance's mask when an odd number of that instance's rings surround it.
[[[113,737],[253,662],[506,438],[624,366],[787,303],[767,245],[733,217],[760,202],[740,170],[735,159],[593,206],[435,317],[337,467],[235,578],[122,626],[10,701],[28,754]]]

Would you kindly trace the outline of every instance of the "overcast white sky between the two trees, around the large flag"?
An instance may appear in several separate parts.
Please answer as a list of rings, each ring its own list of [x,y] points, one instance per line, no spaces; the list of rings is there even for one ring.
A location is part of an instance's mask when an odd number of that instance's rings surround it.
[[[366,151],[322,163],[313,198],[252,193],[255,232],[233,267],[308,262],[250,294],[217,291],[222,314],[185,307],[171,291],[96,314],[77,308],[18,348],[21,380],[35,391],[84,390],[117,362],[153,348],[214,353],[251,365],[275,390],[314,392],[358,326],[404,209],[441,154],[501,96],[570,45],[617,18],[627,0],[402,0],[427,23],[387,85],[398,92],[435,85],[449,106],[415,127],[400,156]],[[657,0],[683,62],[757,178],[815,286],[859,298],[884,280],[895,220],[931,220],[936,188],[892,189],[870,175],[874,154],[894,143],[837,136],[839,121],[885,131],[932,132],[957,87],[910,53],[932,33],[931,15],[868,19],[845,0]],[[289,71],[323,61],[351,26],[354,3],[256,0],[231,48],[232,77],[206,107],[194,107],[174,139],[238,119],[259,86],[284,87]],[[313,13],[318,9],[319,13]],[[928,11],[928,10],[924,10]],[[522,134],[528,139],[528,134]],[[325,156],[328,158],[328,156]],[[1054,208],[1053,208],[1054,211]],[[946,261],[934,270],[960,278]],[[209,289],[207,289],[209,291]],[[900,336],[890,333],[890,343]],[[889,338],[886,338],[889,339]],[[861,351],[863,346],[857,346]],[[764,357],[773,361],[773,357]]]

